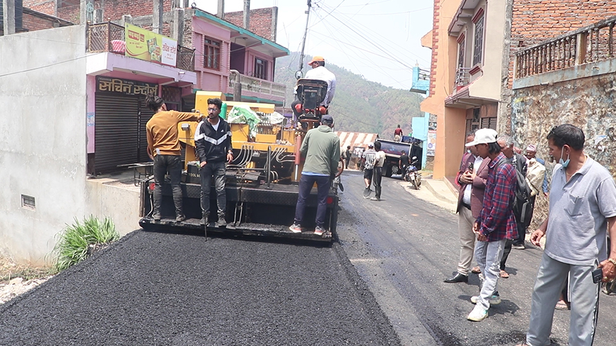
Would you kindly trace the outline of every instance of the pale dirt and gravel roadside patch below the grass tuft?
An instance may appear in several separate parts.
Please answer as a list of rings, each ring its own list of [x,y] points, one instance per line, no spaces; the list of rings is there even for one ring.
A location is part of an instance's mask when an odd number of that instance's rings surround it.
[[[50,268],[18,265],[0,254],[0,304],[24,294],[51,278]]]

